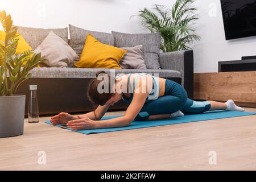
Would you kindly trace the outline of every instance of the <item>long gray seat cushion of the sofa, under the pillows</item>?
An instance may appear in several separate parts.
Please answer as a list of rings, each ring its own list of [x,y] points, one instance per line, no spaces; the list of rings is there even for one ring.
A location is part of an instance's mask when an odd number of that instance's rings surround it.
[[[108,68],[34,68],[30,71],[32,78],[95,78],[98,71],[110,73]],[[181,73],[171,69],[112,69],[115,76],[118,73],[158,73],[159,77],[180,78]],[[158,76],[158,75],[155,75]]]

